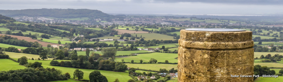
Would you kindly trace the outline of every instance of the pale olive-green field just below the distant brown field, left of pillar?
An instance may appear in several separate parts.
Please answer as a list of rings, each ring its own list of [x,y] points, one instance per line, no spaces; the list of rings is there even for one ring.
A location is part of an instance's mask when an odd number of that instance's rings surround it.
[[[135,36],[135,34],[132,34]],[[142,36],[145,37],[144,40],[175,40],[173,39],[173,36],[168,36],[168,35],[162,35],[158,33],[136,33],[138,37]],[[139,39],[136,39],[139,40]]]

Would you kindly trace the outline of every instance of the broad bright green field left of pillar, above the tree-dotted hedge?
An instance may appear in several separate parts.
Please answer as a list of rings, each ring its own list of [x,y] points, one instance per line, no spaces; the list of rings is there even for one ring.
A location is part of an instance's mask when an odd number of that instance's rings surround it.
[[[144,50],[140,50],[144,51]],[[118,52],[117,52],[118,53]],[[149,62],[151,58],[154,58],[157,60],[157,62],[165,62],[165,60],[168,60],[169,63],[177,63],[178,59],[174,59],[178,57],[178,54],[173,53],[159,53],[159,52],[153,52],[153,53],[147,53],[147,54],[139,54],[137,56],[128,56],[128,57],[116,57],[116,61],[121,62],[122,59],[124,59],[125,62],[131,62],[131,60],[134,60],[134,62],[139,63],[139,60],[143,60],[143,62]]]

